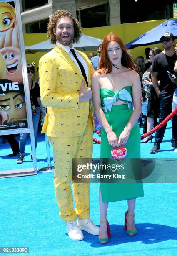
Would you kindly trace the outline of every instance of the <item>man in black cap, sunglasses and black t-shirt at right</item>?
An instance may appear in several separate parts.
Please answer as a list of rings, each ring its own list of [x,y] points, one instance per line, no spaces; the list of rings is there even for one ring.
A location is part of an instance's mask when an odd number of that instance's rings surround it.
[[[174,50],[175,37],[172,33],[166,32],[161,38],[164,50],[157,54],[151,67],[152,84],[160,98],[160,116],[159,123],[161,123],[172,110],[173,92],[175,84],[170,80],[167,71],[173,73],[174,63],[177,60],[177,55]],[[160,87],[158,85],[160,80]],[[155,143],[150,153],[157,153],[160,151],[160,143],[162,143],[163,136],[167,124],[160,128],[155,133]],[[172,120],[172,148],[177,148],[177,118]]]

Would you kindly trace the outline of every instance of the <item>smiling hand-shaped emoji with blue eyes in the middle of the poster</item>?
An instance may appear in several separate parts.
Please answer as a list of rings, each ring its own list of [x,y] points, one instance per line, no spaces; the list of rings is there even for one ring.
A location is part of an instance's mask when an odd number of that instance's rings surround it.
[[[5,79],[13,82],[23,83],[22,64],[20,59],[20,49],[17,47],[5,47],[0,49],[0,53],[5,61]]]

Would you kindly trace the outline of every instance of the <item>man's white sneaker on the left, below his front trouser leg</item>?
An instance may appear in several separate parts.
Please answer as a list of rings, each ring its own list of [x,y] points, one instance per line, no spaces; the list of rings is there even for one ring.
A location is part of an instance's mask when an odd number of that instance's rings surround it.
[[[84,235],[75,221],[67,221],[66,231],[70,239],[80,241],[84,239]]]

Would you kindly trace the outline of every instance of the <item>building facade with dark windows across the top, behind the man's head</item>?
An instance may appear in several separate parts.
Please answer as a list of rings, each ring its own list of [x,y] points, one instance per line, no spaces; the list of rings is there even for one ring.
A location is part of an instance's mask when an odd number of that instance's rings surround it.
[[[45,33],[55,10],[69,10],[82,28],[173,17],[173,0],[20,0],[24,33]]]

